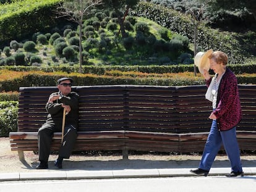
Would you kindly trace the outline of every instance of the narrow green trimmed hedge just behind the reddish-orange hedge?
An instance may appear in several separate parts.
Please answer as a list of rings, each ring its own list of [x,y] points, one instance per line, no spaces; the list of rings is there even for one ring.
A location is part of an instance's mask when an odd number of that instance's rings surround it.
[[[256,64],[228,64],[236,74],[256,73]],[[0,66],[0,70],[7,69],[17,72],[30,72],[39,70],[42,72],[66,72],[78,73],[79,66],[53,66],[53,67],[36,67],[36,66]],[[85,65],[82,66],[83,74],[103,75],[109,70],[119,70],[121,72],[143,72],[143,73],[182,73],[194,72],[194,64],[190,65]],[[198,69],[197,69],[198,72]]]

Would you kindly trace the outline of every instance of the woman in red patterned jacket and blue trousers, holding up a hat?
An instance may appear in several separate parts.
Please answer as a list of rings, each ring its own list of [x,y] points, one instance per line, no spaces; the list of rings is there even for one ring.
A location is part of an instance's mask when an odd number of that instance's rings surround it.
[[[231,163],[231,173],[227,177],[243,176],[236,125],[242,119],[237,78],[227,67],[228,56],[222,51],[198,52],[195,65],[205,78],[208,87],[205,98],[212,102],[213,112],[210,133],[203,149],[198,169],[190,170],[195,175],[207,176],[213,161],[223,144]],[[211,77],[208,70],[215,73]]]

